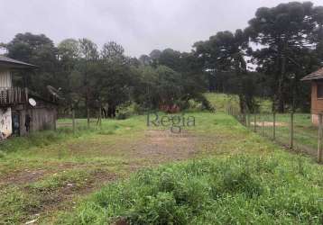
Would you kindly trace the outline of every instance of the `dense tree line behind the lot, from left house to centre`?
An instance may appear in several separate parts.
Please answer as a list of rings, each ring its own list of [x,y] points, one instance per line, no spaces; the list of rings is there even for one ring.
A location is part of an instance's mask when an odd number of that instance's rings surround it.
[[[83,116],[102,108],[106,117],[115,117],[117,107],[130,102],[143,111],[179,111],[189,100],[209,107],[202,94],[203,71],[189,53],[153,50],[143,60],[125,56],[125,49],[114,41],[101,49],[88,39],[62,40],[55,46],[45,35],[29,32],[18,33],[2,46],[8,57],[39,66],[15,76],[23,77],[14,81],[16,85],[27,85],[48,98],[48,85],[54,86],[60,90],[62,108],[83,109]]]

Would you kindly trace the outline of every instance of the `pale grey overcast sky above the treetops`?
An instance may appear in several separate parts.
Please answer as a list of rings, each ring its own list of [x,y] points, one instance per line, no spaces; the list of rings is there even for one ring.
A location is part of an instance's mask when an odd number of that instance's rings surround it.
[[[245,28],[255,10],[289,0],[0,0],[0,42],[18,32],[44,33],[55,43],[88,38],[109,40],[126,54],[152,49],[189,51],[217,31]],[[322,4],[322,0],[313,0]]]

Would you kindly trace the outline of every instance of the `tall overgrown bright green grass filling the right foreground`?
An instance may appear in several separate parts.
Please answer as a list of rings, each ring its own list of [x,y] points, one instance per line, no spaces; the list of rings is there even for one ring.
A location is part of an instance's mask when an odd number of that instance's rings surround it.
[[[323,169],[281,151],[146,169],[108,184],[60,224],[321,224]]]

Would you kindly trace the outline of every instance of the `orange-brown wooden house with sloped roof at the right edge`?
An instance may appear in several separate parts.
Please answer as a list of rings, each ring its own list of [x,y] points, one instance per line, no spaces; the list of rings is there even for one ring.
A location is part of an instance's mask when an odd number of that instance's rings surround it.
[[[301,80],[311,82],[310,112],[312,122],[317,125],[318,113],[323,113],[323,67],[303,77]]]

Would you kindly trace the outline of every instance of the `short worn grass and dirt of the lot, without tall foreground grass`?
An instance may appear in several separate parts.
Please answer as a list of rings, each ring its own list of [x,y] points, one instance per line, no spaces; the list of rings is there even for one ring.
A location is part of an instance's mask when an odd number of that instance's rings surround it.
[[[135,116],[103,121],[102,129],[94,122],[90,130],[80,120],[76,134],[64,120],[56,132],[0,143],[0,224],[47,223],[56,211],[139,168],[233,150],[223,139],[235,135],[228,125],[240,127],[237,122],[225,114],[190,115],[196,116],[196,127],[180,135],[147,129],[146,117]]]

